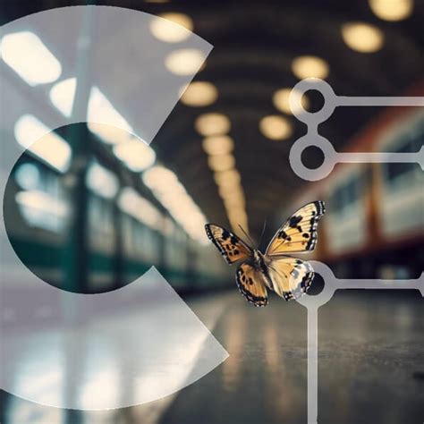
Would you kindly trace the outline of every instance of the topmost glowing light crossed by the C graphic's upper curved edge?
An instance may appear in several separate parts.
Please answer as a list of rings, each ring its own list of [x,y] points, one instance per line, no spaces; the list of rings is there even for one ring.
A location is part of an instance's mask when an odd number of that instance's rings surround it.
[[[192,30],[191,17],[183,13],[163,13],[150,22],[152,34],[167,43],[179,43],[189,38]]]

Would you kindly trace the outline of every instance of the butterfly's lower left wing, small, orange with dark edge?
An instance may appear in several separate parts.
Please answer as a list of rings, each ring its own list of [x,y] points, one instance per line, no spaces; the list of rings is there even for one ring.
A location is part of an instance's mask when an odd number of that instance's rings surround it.
[[[235,281],[240,293],[255,306],[267,306],[267,286],[264,275],[249,262],[237,268]]]

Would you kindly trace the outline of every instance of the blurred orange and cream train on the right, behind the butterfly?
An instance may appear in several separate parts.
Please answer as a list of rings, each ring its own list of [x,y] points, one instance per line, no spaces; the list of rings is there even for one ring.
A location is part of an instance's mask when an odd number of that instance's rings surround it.
[[[423,96],[422,84],[407,95]],[[424,263],[423,142],[422,108],[386,108],[350,140],[345,151],[416,153],[415,163],[337,164],[323,180],[307,183],[291,208],[316,199],[326,202],[318,247],[310,259],[325,262],[340,278],[420,276]],[[278,216],[293,210],[281,210]]]

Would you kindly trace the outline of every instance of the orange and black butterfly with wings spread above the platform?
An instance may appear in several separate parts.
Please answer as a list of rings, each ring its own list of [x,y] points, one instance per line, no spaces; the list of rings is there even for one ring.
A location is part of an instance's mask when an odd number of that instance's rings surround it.
[[[265,254],[252,249],[240,237],[215,224],[205,225],[209,240],[229,265],[238,263],[237,286],[255,306],[267,306],[267,289],[285,301],[307,293],[314,277],[309,262],[287,256],[314,250],[317,245],[318,221],[326,212],[322,201],[314,201],[290,216],[271,239]],[[247,234],[246,234],[247,235]]]

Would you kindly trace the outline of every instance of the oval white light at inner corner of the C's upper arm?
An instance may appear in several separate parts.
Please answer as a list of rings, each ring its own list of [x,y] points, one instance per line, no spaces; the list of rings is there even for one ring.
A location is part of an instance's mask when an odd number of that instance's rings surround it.
[[[144,171],[155,163],[155,151],[137,139],[132,139],[114,146],[114,155],[122,160],[131,171]]]

